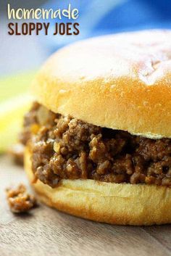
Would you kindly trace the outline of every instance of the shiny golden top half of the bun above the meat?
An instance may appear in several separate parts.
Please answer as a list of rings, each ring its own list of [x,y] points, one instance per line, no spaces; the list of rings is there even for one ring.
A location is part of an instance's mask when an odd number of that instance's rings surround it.
[[[171,138],[171,30],[64,47],[43,65],[33,91],[53,112],[151,139]]]

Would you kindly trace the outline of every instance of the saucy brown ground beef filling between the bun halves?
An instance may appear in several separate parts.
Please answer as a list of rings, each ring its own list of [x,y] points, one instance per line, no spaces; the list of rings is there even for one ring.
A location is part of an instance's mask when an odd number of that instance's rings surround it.
[[[33,172],[54,187],[64,179],[171,186],[171,140],[146,139],[74,117],[54,114],[35,103],[20,135],[30,139]]]

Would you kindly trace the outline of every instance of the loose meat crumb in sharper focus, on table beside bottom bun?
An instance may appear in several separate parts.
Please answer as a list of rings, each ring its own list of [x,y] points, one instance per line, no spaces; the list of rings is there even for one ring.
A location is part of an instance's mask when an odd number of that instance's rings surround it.
[[[20,184],[16,189],[6,189],[10,210],[14,213],[28,212],[36,206],[36,198],[28,194],[24,185]]]

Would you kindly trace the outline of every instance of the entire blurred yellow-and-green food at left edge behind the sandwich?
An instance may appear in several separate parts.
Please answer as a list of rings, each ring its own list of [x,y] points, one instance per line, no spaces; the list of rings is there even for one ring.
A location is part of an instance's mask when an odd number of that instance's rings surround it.
[[[0,153],[17,142],[22,118],[30,107],[27,91],[36,71],[0,78]]]

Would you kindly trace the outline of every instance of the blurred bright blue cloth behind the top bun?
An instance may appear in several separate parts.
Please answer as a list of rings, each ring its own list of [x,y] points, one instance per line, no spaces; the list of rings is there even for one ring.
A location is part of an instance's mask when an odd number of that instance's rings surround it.
[[[80,23],[80,35],[58,38],[49,36],[43,43],[51,51],[91,36],[148,28],[171,28],[170,0],[52,0],[43,7],[56,9],[58,6],[63,9],[69,3],[79,9],[77,22]]]

